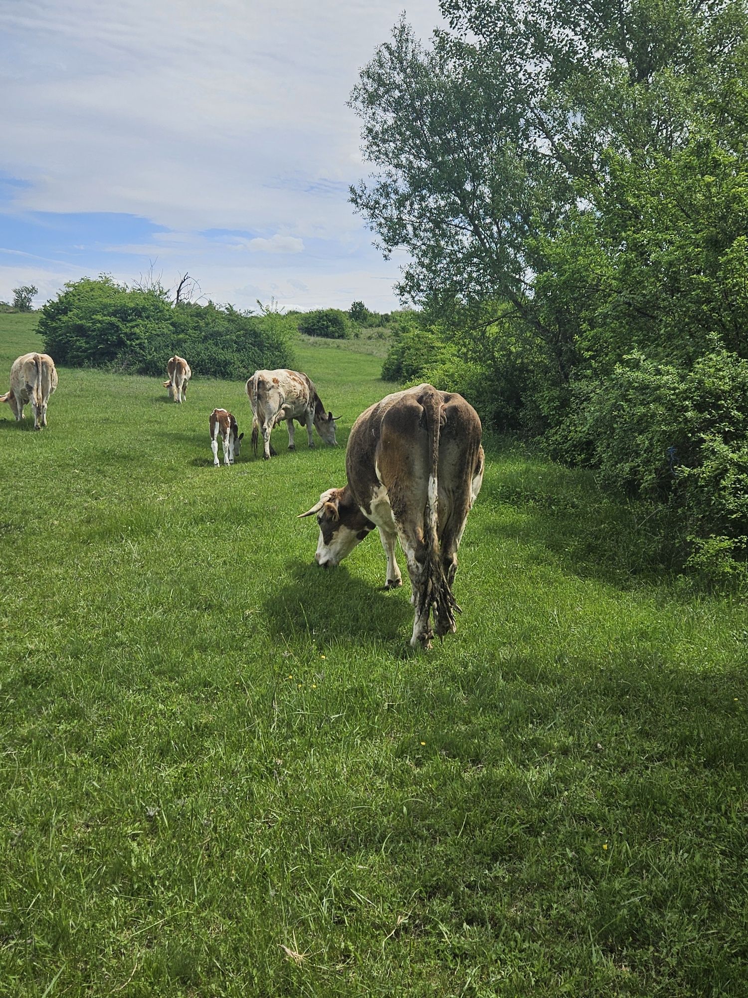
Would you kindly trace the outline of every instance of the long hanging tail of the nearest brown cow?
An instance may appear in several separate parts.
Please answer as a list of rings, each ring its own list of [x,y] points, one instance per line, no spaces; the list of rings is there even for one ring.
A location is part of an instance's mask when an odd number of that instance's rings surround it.
[[[424,526],[426,542],[426,565],[424,566],[424,586],[421,595],[420,614],[434,611],[436,633],[443,637],[455,630],[455,613],[460,608],[452,595],[449,581],[444,574],[439,543],[439,437],[445,422],[442,399],[435,388],[429,386],[419,396],[418,401],[423,408],[421,425],[428,433],[429,447],[429,482],[424,510]]]

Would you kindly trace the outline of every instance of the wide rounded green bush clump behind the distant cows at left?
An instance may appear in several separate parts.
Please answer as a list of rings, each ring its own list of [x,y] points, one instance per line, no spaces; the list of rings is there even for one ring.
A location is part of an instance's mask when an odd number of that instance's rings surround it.
[[[162,374],[174,353],[187,357],[195,374],[230,378],[292,359],[273,314],[212,302],[175,307],[158,287],[129,288],[106,275],[66,284],[42,309],[39,332],[60,364],[139,374]]]

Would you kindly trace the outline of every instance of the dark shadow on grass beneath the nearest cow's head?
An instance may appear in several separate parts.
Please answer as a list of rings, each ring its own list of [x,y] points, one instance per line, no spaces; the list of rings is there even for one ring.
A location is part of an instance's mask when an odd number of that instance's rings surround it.
[[[307,635],[317,643],[351,639],[360,644],[402,641],[413,620],[405,590],[385,592],[352,576],[344,565],[286,565],[285,582],[265,602],[269,632]]]

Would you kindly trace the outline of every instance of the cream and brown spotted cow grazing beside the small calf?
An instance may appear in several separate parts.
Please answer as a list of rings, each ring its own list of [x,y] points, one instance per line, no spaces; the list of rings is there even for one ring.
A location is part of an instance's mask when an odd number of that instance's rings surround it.
[[[252,407],[252,450],[257,453],[257,431],[261,429],[264,440],[264,458],[275,453],[270,446],[270,432],[277,423],[285,419],[288,427],[288,450],[295,450],[293,443],[293,420],[306,426],[309,446],[312,440],[312,425],[325,443],[337,445],[335,420],[331,412],[325,412],[317,389],[306,374],[285,369],[255,371],[246,382],[246,393]]]

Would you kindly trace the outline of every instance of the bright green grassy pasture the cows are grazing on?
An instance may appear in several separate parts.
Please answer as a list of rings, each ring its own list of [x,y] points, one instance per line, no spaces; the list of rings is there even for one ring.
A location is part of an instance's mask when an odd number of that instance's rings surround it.
[[[39,345],[0,315],[3,378]],[[297,363],[343,443],[391,387]],[[744,606],[489,441],[458,633],[412,653],[376,536],[322,573],[296,519],[343,448],[214,469],[215,405],[248,437],[199,377],[0,407],[0,994],[748,994]]]

